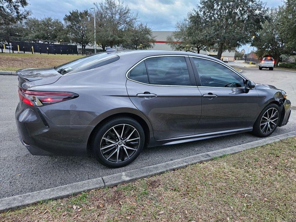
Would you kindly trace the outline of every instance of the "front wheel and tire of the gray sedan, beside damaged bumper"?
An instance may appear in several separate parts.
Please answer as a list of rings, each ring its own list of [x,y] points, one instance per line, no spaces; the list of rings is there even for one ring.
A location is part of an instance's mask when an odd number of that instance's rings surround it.
[[[279,125],[280,109],[276,104],[269,104],[259,114],[253,126],[253,134],[259,137],[270,136]]]

